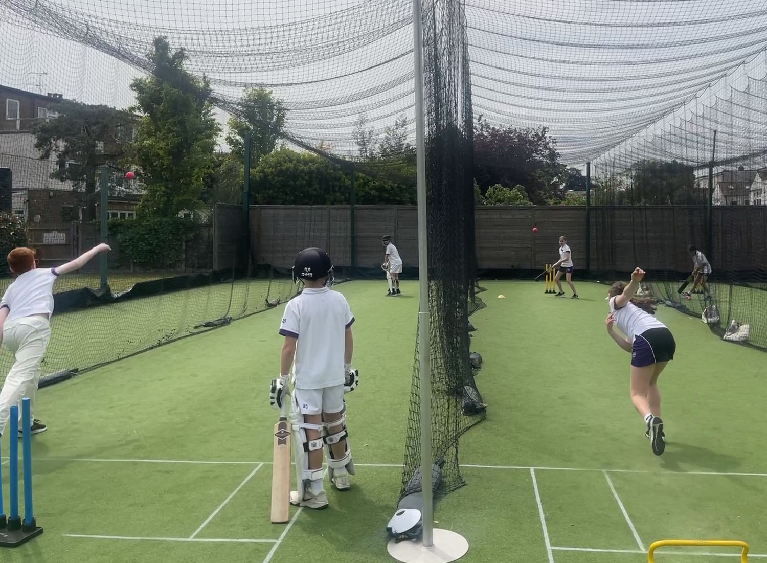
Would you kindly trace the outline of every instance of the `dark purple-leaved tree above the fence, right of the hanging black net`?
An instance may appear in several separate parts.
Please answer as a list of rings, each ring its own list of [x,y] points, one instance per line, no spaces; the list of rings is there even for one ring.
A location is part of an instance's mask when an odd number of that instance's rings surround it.
[[[525,186],[535,205],[551,196],[561,199],[562,167],[555,140],[545,127],[515,129],[495,127],[479,120],[474,129],[474,170],[479,188]]]

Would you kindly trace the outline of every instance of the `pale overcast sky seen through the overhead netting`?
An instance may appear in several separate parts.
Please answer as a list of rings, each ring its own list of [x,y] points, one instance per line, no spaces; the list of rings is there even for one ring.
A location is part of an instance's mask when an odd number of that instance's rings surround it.
[[[427,15],[433,6],[424,3]],[[767,0],[726,6],[466,0],[474,114],[549,127],[562,160],[575,165],[654,155],[700,163],[715,148],[759,150]],[[166,35],[222,100],[245,87],[275,91],[288,131],[304,143],[352,156],[360,116],[380,137],[405,115],[414,135],[411,0],[0,0],[0,8],[0,84],[127,107],[153,38]],[[438,26],[445,10],[438,0]],[[452,29],[436,45],[443,64],[456,53],[445,39]]]

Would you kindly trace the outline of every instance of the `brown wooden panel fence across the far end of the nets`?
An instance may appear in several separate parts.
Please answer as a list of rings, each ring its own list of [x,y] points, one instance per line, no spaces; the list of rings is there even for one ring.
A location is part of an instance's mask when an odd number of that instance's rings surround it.
[[[234,218],[238,212],[232,208],[242,208],[226,206]],[[415,207],[356,206],[354,233],[350,212],[349,206],[252,206],[255,262],[289,268],[299,250],[320,246],[338,266],[377,267],[384,259],[381,236],[391,234],[405,267],[416,267]],[[224,221],[219,212],[217,216],[219,232]],[[707,250],[707,216],[705,206],[478,207],[479,268],[540,270],[558,259],[558,237],[565,235],[578,269],[627,272],[640,264],[652,270],[688,272],[692,262],[687,246]],[[538,232],[532,232],[533,226]],[[233,242],[231,236],[219,235],[222,238]],[[709,260],[715,268],[767,270],[765,247],[767,207],[714,207]],[[219,259],[217,264],[227,262]]]

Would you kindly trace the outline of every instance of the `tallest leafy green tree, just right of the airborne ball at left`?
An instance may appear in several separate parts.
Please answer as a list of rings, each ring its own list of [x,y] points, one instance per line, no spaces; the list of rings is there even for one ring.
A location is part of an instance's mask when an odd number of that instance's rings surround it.
[[[134,147],[144,194],[140,215],[170,217],[202,204],[213,166],[219,125],[212,115],[206,77],[185,68],[183,49],[171,52],[166,38],[147,55],[152,74],[131,83],[141,117]]]

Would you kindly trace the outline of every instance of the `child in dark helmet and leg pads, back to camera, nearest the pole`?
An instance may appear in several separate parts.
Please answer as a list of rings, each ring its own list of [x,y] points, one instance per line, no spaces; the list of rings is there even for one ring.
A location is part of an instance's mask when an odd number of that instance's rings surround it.
[[[279,333],[285,337],[280,377],[272,380],[270,403],[280,409],[288,395],[293,366],[291,425],[298,490],[291,504],[310,509],[328,507],[323,489],[323,449],[327,446],[328,474],[340,491],[350,488],[354,463],[347,440],[344,393],[357,387],[351,369],[354,315],[343,295],[331,290],[333,262],[322,249],[304,249],[293,261],[293,281],[301,280],[301,295],[288,301]]]

